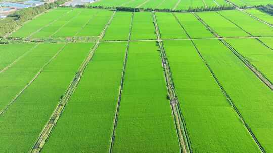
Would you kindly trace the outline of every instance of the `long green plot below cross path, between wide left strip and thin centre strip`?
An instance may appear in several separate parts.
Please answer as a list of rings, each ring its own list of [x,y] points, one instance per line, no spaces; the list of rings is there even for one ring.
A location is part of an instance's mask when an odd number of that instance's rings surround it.
[[[126,45],[99,45],[42,152],[109,152]]]

